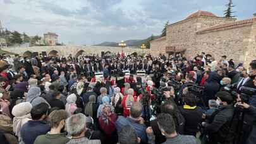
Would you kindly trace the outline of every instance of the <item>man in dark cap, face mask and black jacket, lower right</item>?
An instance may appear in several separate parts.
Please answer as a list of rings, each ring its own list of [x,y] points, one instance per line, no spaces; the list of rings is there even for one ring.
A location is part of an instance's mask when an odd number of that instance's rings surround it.
[[[233,133],[229,131],[234,107],[233,97],[226,91],[216,93],[219,108],[212,114],[208,122],[203,122],[204,133],[209,137],[207,143],[230,143],[233,140]]]

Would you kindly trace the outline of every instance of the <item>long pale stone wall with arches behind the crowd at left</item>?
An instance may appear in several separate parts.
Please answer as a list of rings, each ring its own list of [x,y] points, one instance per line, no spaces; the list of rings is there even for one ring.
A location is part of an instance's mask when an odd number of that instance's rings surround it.
[[[6,47],[2,48],[4,51],[14,52],[16,54],[23,55],[25,52],[42,52],[46,51],[47,54],[58,52],[59,56],[76,56],[78,53],[84,54],[99,54],[101,56],[101,52],[113,52],[113,53],[121,53],[121,47],[104,47],[104,46],[68,46],[68,45],[56,45],[56,46],[42,46],[42,47]],[[131,54],[133,52],[137,52],[138,54],[142,53],[142,49],[131,49],[128,47],[123,48],[123,51],[126,54]]]

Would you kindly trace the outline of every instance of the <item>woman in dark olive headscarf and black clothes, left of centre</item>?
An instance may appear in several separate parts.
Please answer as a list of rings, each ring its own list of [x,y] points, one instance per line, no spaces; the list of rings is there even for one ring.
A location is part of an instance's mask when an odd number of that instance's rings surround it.
[[[85,115],[92,117],[94,122],[97,121],[97,104],[95,95],[90,95],[89,102],[85,107]]]

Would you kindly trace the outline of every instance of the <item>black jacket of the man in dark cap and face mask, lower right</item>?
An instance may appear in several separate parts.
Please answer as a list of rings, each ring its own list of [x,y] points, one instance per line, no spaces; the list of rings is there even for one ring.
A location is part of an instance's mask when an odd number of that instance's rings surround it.
[[[215,111],[205,124],[204,131],[209,135],[211,143],[228,143],[233,139],[233,131],[230,131],[234,107],[232,104],[223,106]]]

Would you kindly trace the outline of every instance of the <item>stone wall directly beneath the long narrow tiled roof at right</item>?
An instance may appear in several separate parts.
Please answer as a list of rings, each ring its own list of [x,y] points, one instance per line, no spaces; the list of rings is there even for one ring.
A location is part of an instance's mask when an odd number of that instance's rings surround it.
[[[214,32],[199,33],[194,45],[186,54],[195,55],[200,51],[212,54],[217,60],[226,55],[228,59],[245,61],[251,26],[222,29]]]

